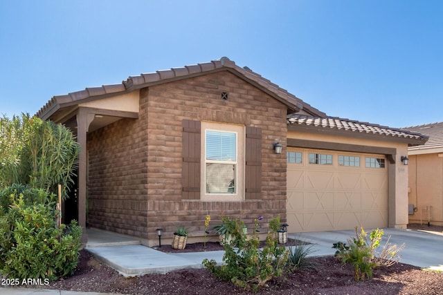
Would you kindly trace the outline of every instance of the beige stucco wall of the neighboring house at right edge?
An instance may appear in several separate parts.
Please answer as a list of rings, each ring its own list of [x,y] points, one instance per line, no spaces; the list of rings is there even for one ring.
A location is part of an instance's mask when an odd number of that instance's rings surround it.
[[[408,158],[408,202],[416,208],[409,222],[443,225],[443,155],[413,151]]]

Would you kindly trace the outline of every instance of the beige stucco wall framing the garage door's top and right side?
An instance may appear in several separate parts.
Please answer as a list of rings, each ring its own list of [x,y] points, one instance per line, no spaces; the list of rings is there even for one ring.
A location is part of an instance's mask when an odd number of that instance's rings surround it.
[[[350,131],[351,132],[351,131]],[[288,140],[313,140],[318,142],[334,142],[342,144],[355,144],[359,146],[374,146],[395,149],[395,164],[386,161],[388,169],[388,227],[406,228],[408,224],[408,166],[401,163],[401,156],[408,154],[405,143],[384,141],[377,139],[360,139],[354,137],[335,136],[321,133],[307,133],[289,131]]]

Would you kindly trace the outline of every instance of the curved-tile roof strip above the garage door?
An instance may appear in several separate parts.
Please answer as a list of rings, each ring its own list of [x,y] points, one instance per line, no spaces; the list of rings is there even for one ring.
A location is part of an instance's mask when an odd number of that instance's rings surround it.
[[[419,140],[423,143],[427,140],[426,136],[418,132],[339,117],[310,117],[307,115],[293,114],[288,116],[287,122],[288,126],[311,126],[323,130],[333,129],[335,131],[347,131],[352,133],[372,133],[374,135],[384,135],[386,137],[401,137],[414,141]]]

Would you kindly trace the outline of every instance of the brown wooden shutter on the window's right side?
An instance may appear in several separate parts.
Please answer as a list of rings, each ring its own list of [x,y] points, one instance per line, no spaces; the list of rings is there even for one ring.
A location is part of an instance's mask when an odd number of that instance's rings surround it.
[[[245,200],[257,200],[262,193],[262,129],[246,127]]]

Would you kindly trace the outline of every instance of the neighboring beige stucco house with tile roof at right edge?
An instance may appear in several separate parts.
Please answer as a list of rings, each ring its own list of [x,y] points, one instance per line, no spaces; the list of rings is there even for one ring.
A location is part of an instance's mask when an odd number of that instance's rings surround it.
[[[443,122],[406,129],[429,137],[408,149],[409,222],[443,225]]]

